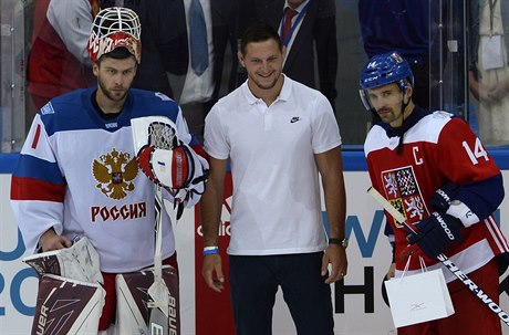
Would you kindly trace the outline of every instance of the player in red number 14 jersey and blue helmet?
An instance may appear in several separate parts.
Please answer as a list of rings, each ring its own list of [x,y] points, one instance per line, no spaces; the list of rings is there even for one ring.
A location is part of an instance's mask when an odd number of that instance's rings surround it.
[[[365,107],[378,119],[364,144],[372,185],[416,230],[412,234],[386,217],[395,275],[409,255],[406,275],[420,272],[422,257],[428,270],[443,269],[455,308],[449,317],[397,334],[501,334],[497,314],[436,259],[445,253],[498,303],[499,262],[509,251],[492,214],[505,196],[500,170],[461,118],[413,103],[414,76],[397,52],[373,56],[360,85]]]

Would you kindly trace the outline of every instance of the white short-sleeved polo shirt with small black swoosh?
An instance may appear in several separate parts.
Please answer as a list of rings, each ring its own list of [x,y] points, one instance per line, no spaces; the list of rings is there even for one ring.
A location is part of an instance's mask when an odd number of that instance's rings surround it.
[[[207,115],[205,149],[230,159],[233,178],[229,254],[322,251],[320,184],[314,154],[341,145],[329,101],[288,76],[269,107],[247,82]]]

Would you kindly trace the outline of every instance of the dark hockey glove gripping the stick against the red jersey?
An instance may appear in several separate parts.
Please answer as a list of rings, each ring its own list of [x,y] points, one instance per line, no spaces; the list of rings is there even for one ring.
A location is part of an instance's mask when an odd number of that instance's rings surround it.
[[[450,243],[461,242],[461,228],[459,219],[444,212],[433,212],[429,218],[418,222],[417,233],[408,237],[411,244],[417,243],[424,253],[434,259]]]

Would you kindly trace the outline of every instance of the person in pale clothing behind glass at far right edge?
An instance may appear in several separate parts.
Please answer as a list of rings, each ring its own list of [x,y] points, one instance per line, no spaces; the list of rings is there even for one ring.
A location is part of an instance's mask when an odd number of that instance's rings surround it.
[[[509,144],[509,2],[470,4],[469,87],[478,100],[479,136],[487,146]]]

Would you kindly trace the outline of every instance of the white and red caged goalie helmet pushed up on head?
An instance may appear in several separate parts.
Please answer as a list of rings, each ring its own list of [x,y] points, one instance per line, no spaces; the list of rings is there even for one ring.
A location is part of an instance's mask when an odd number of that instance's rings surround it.
[[[97,13],[89,39],[89,55],[97,62],[105,53],[126,48],[139,64],[142,60],[142,24],[138,15],[128,8],[111,7]]]

